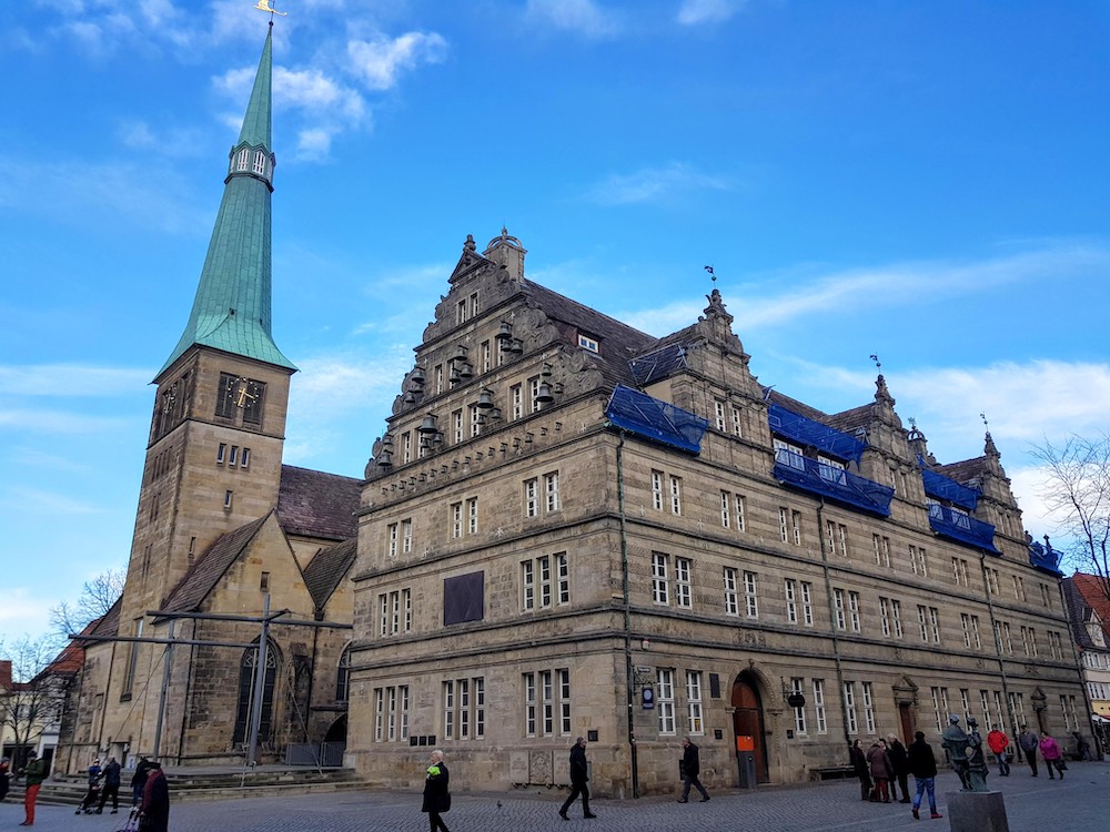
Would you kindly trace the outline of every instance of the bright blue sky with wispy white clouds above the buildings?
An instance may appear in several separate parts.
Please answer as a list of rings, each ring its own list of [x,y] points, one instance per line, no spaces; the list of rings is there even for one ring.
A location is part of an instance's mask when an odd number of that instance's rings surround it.
[[[266,16],[0,6],[0,639],[125,564]],[[274,337],[290,464],[361,476],[466,234],[655,335],[712,264],[760,382],[940,461],[1110,412],[1110,6],[289,0]]]

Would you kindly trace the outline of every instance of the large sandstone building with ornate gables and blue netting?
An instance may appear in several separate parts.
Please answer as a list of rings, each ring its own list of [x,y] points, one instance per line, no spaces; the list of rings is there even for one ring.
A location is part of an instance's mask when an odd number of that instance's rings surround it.
[[[467,239],[366,468],[347,760],[414,785],[710,788],[842,764],[947,716],[1083,722],[1054,552],[990,435],[940,465],[880,375],[825,414],[761,385],[719,293],[638,332]],[[1082,726],[1080,726],[1082,727]],[[741,770],[743,769],[743,770]],[[457,773],[455,773],[457,772]]]

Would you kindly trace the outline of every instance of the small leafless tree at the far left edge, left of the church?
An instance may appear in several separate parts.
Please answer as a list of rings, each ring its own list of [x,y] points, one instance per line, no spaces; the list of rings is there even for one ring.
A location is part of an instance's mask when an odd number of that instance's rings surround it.
[[[57,730],[73,667],[56,655],[49,636],[23,636],[8,645],[0,661],[11,662],[0,681],[0,728],[13,740],[19,759],[33,749],[47,730]]]

